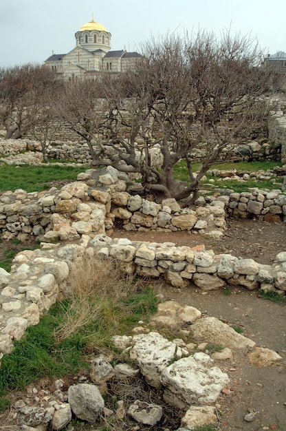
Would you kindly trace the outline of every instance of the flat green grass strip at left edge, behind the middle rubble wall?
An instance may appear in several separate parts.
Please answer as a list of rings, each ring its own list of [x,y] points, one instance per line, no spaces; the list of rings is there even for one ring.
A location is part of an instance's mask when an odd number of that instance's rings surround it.
[[[71,180],[76,181],[80,172],[85,169],[83,167],[65,166],[29,166],[21,165],[0,165],[0,191],[15,191],[23,189],[25,191],[43,191],[50,189],[51,181],[56,180]]]

